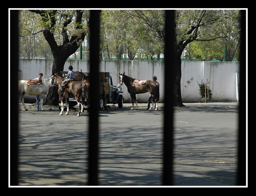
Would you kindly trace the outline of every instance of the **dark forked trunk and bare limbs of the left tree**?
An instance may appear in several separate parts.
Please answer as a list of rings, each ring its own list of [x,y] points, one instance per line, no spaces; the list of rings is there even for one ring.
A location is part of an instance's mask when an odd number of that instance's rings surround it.
[[[75,18],[75,29],[79,30],[81,29],[82,31],[79,31],[77,35],[72,35],[71,38],[69,39],[68,33],[67,33],[67,26],[72,22],[72,16],[69,16],[68,14],[63,14],[63,26],[62,26],[62,31],[61,35],[63,38],[63,44],[58,46],[53,32],[51,32],[52,29],[54,29],[54,25],[56,24],[56,18],[53,17],[55,14],[57,14],[57,10],[31,10],[34,13],[40,14],[42,17],[42,21],[45,22],[45,30],[43,31],[43,35],[45,40],[49,43],[52,53],[53,53],[53,69],[52,73],[57,73],[58,71],[63,71],[64,69],[64,64],[68,57],[72,54],[75,53],[75,51],[79,47],[79,41],[83,41],[85,38],[85,35],[87,32],[82,30],[82,16],[83,16],[83,11],[81,10],[76,10],[76,18]],[[51,23],[49,23],[49,21]],[[88,22],[88,24],[90,21]],[[48,24],[48,25],[47,25]],[[50,24],[50,25],[49,25]],[[67,70],[68,71],[68,70]],[[45,101],[45,104],[51,105],[51,106],[57,106],[59,105],[59,95],[57,92],[56,87],[51,87],[48,91],[47,98]]]

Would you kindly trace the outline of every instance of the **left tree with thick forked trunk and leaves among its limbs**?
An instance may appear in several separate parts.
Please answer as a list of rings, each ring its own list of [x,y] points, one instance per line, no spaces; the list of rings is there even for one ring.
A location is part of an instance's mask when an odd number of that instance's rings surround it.
[[[43,22],[43,35],[51,47],[53,54],[52,72],[63,71],[68,57],[75,53],[84,40],[87,32],[87,24],[82,23],[82,10],[30,10],[41,16]],[[72,26],[73,28],[71,28]],[[61,29],[58,32],[58,29]],[[57,35],[61,35],[62,43]],[[46,98],[47,105],[58,105],[58,93],[56,88],[50,88]]]

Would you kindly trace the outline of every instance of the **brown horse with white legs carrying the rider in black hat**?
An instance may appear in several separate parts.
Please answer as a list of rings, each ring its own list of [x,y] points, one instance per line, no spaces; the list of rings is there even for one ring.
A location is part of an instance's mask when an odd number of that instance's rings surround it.
[[[69,85],[68,88],[64,88],[64,92],[61,91],[61,83],[65,80],[62,75],[59,74],[53,74],[52,75],[52,81],[51,81],[51,86],[58,85],[58,94],[59,94],[59,99],[61,101],[61,112],[59,115],[62,115],[63,110],[64,110],[64,104],[63,101],[66,99],[66,105],[67,105],[67,112],[65,115],[69,114],[69,98],[75,97],[76,102],[79,106],[79,111],[77,116],[82,116],[83,110],[84,110],[84,100],[87,92],[87,88],[85,83],[82,81],[74,81]],[[80,103],[80,97],[82,99],[82,104]]]

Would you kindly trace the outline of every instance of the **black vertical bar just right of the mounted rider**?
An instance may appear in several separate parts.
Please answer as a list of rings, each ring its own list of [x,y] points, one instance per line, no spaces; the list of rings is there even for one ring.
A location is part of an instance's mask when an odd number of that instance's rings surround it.
[[[90,115],[88,185],[98,185],[99,10],[90,12]]]

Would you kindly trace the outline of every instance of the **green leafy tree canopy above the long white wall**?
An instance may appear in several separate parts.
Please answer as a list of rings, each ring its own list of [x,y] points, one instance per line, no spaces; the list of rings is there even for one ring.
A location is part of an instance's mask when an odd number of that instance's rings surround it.
[[[82,11],[83,20],[80,24],[74,20],[75,10],[44,10],[44,17],[29,10],[20,10],[20,35],[23,36],[20,39],[23,44],[20,46],[20,56],[31,57],[32,48],[36,56],[43,52],[49,53],[42,33],[35,35],[44,26],[51,28],[57,45],[63,44],[64,31],[69,38],[88,32],[90,10]],[[164,53],[164,17],[165,10],[101,10],[100,51],[104,58],[152,60],[160,57]],[[176,10],[175,17],[178,55],[183,52],[183,57],[189,60],[209,61],[215,58],[222,61],[224,45],[227,45],[230,54],[228,61],[239,60],[239,10]],[[69,25],[63,25],[70,20]],[[203,45],[206,42],[211,45]],[[81,40],[77,44],[81,45]],[[37,51],[39,49],[41,51]],[[89,49],[84,46],[84,50]]]

